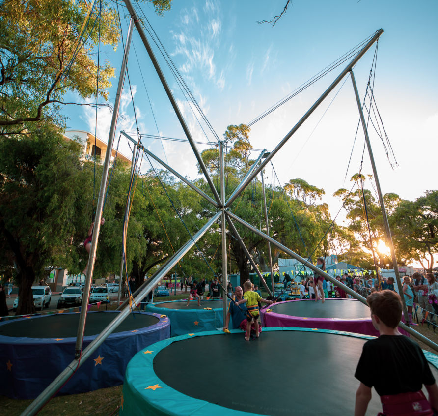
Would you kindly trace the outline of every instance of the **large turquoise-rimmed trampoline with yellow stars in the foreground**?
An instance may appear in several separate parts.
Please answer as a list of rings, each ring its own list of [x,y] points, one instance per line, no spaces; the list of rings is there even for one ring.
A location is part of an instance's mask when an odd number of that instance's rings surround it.
[[[367,339],[327,329],[267,328],[250,342],[239,330],[160,341],[129,362],[119,415],[351,415],[359,386],[354,373]],[[207,372],[195,367],[205,352]],[[438,357],[425,355],[437,378]],[[373,389],[367,415],[381,409]]]

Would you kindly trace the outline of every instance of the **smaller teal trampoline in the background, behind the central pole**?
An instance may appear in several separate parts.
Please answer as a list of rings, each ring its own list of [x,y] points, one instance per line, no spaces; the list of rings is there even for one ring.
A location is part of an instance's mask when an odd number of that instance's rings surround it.
[[[198,306],[197,300],[191,300],[189,306],[186,305],[187,300],[149,303],[146,311],[167,315],[171,322],[171,336],[223,327],[222,299],[204,299],[201,300],[201,306]]]

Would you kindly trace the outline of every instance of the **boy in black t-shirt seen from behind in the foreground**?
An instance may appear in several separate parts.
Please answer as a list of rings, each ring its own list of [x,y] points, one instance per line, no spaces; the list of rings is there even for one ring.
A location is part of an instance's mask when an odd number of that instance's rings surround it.
[[[432,416],[438,409],[438,387],[420,347],[398,331],[402,303],[397,293],[384,290],[367,297],[371,319],[380,336],[363,345],[355,377],[355,416],[365,415],[374,386],[390,415]],[[421,391],[425,385],[429,401]]]

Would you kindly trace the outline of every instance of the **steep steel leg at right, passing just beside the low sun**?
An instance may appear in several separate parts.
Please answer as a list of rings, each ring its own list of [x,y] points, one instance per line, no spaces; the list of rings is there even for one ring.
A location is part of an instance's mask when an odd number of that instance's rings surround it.
[[[371,142],[370,142],[370,138],[368,136],[368,130],[366,128],[365,117],[363,116],[362,106],[360,104],[359,92],[357,91],[355,74],[353,73],[353,70],[350,71],[350,76],[351,76],[351,81],[353,83],[353,89],[355,90],[357,108],[359,110],[360,120],[362,122],[362,128],[363,128],[363,132],[365,134],[366,146],[368,148],[368,153],[370,155],[370,161],[371,161],[371,167],[373,168],[374,180],[376,181],[376,188],[377,188],[377,193],[379,195],[380,208],[382,209],[383,223],[385,225],[385,230],[386,230],[386,238],[388,240],[389,249],[391,250],[391,257],[392,257],[392,264],[394,265],[395,278],[397,281],[399,294],[400,294],[400,297],[402,299],[403,314],[405,316],[406,325],[409,326],[408,307],[406,306],[405,297],[403,296],[403,285],[402,285],[402,282],[400,280],[400,272],[399,272],[398,265],[397,265],[397,257],[395,256],[394,244],[392,243],[391,230],[389,228],[389,221],[388,221],[388,217],[386,215],[386,208],[385,208],[385,204],[383,202],[382,189],[380,188],[379,177],[377,175],[376,164],[374,162],[373,150],[371,149]]]

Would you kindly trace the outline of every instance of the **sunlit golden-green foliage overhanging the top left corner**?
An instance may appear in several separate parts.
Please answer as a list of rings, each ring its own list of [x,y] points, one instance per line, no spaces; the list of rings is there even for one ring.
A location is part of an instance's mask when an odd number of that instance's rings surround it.
[[[146,0],[158,14],[171,0]],[[102,11],[100,13],[100,5]],[[100,24],[99,24],[100,21]],[[96,94],[96,56],[103,45],[116,48],[120,33],[112,2],[5,0],[0,9],[0,134],[25,130],[28,122],[58,125],[67,91],[82,99]],[[100,28],[100,30],[99,30]],[[97,60],[97,59],[96,59]],[[108,97],[114,68],[101,61],[99,94]]]

